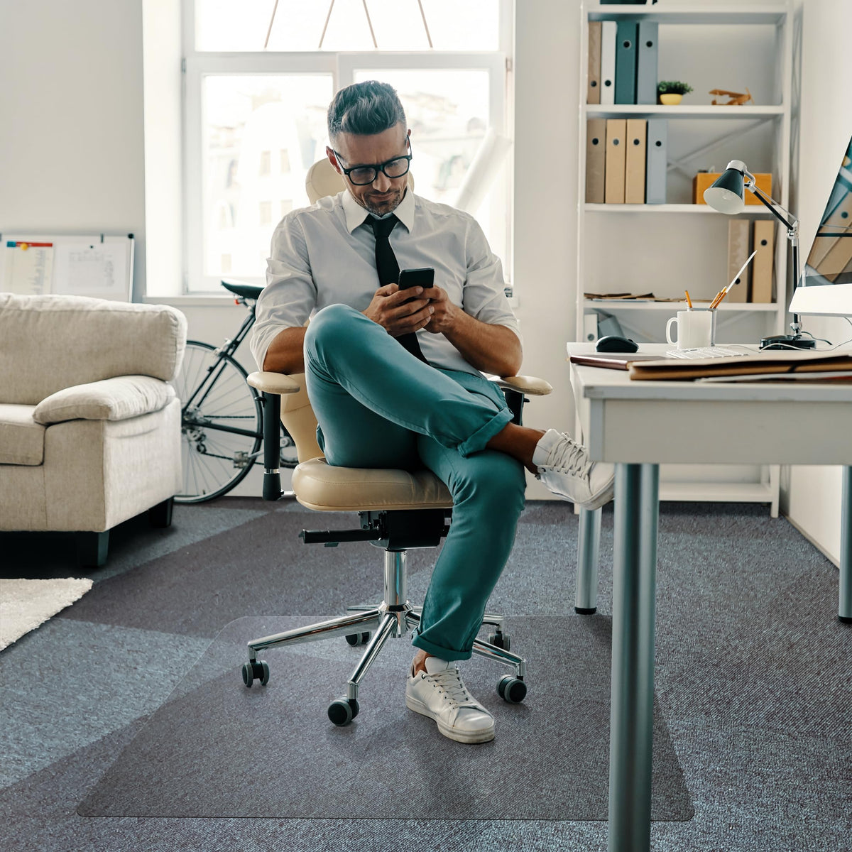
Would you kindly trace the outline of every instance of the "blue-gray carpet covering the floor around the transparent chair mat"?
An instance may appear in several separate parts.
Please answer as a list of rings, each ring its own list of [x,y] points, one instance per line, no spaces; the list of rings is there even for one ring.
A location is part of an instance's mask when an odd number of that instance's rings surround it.
[[[3,852],[606,852],[607,823],[592,820],[78,815],[223,626],[336,613],[381,591],[375,548],[297,538],[327,523],[290,502],[223,498],[177,506],[168,530],[143,516],[113,531],[89,594],[0,652]],[[489,608],[513,624],[573,618],[576,547],[570,504],[528,504]],[[411,556],[420,601],[435,552]],[[607,507],[592,621],[612,613],[612,559]],[[0,533],[0,576],[72,575],[68,536]],[[766,506],[668,503],[657,576],[656,695],[695,813],[653,822],[653,852],[849,852],[852,625],[837,620],[837,568]]]

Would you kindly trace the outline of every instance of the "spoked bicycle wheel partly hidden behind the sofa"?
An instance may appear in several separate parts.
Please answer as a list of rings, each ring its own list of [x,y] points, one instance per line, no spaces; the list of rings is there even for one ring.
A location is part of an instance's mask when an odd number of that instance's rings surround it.
[[[222,497],[242,481],[262,443],[262,408],[229,355],[187,341],[175,390],[181,400],[183,487],[176,503]]]

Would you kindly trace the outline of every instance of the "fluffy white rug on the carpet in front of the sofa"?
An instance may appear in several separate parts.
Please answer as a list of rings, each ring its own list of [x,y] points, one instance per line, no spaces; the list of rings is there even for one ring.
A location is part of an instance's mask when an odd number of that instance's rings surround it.
[[[0,579],[0,651],[78,601],[92,587],[89,579]]]

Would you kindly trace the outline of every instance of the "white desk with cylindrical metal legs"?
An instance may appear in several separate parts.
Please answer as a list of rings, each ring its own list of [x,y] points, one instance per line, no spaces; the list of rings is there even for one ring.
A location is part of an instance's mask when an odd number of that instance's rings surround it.
[[[569,355],[592,353],[568,344]],[[852,621],[852,385],[631,382],[574,364],[571,382],[591,458],[616,464],[609,849],[648,852],[659,464],[845,465],[838,614]],[[580,514],[581,540],[594,538]]]

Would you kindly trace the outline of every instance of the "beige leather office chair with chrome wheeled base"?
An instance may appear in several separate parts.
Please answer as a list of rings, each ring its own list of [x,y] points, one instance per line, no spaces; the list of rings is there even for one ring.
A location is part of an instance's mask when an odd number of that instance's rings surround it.
[[[411,179],[409,185],[412,185]],[[331,163],[322,160],[308,171],[306,186],[308,196],[315,201],[321,197],[316,193],[339,192],[343,189],[343,181]],[[265,371],[251,373],[248,377],[251,387],[262,393],[263,423],[268,432],[264,436],[263,498],[277,500],[284,493],[278,470],[280,418],[296,443],[299,463],[292,475],[296,500],[308,509],[354,511],[360,517],[359,529],[302,530],[300,538],[305,544],[333,546],[369,541],[381,547],[384,550],[383,601],[369,609],[350,607],[351,614],[319,624],[252,640],[248,643],[249,661],[243,665],[243,682],[247,687],[255,680],[261,684],[268,682],[269,666],[257,658],[260,651],[287,643],[346,636],[350,645],[366,645],[366,649],[349,677],[346,695],[332,701],[328,708],[331,722],[342,726],[357,716],[360,682],[385,643],[391,636],[407,636],[420,622],[422,607],[412,606],[406,597],[407,550],[440,544],[452,520],[452,498],[446,485],[427,469],[409,472],[341,468],[326,463],[317,444],[317,421],[304,378],[303,373],[285,376]],[[523,404],[528,401],[525,394],[544,395],[552,390],[549,383],[533,377],[495,378],[494,381],[503,389],[515,423],[521,423]],[[514,675],[504,676],[498,683],[498,694],[509,703],[520,702],[527,694],[525,661],[509,651],[510,640],[503,629],[503,616],[486,613],[482,623],[492,625],[495,630],[488,636],[488,642],[475,640],[474,653],[514,668]]]

